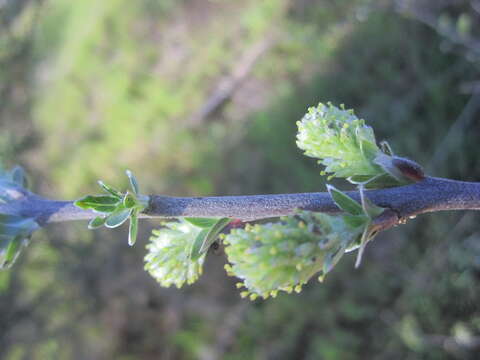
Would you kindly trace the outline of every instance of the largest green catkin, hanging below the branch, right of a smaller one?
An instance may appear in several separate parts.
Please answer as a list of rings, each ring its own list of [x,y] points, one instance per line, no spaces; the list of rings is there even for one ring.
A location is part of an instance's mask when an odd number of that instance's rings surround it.
[[[361,229],[351,228],[343,216],[307,211],[282,218],[279,223],[234,229],[224,240],[230,262],[226,270],[243,280],[236,285],[247,289],[242,297],[275,297],[278,291],[299,293],[313,275],[321,272],[324,276],[330,271],[332,266],[325,266],[325,262],[333,257],[338,261],[358,240]],[[335,233],[340,235],[333,236]]]

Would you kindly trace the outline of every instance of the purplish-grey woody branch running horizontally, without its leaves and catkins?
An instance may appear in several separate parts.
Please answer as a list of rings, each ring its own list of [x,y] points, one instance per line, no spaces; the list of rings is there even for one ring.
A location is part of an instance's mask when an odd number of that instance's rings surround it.
[[[359,200],[357,191],[347,194]],[[474,182],[427,177],[411,185],[369,190],[366,194],[378,206],[390,209],[398,222],[432,211],[480,210],[480,183]],[[33,217],[41,225],[97,216],[93,211],[75,207],[72,201],[49,200],[22,189],[18,190],[16,198],[8,204],[0,204],[0,213]],[[292,215],[298,209],[340,212],[327,192],[215,197],[151,195],[149,206],[141,217],[230,217],[254,221]]]

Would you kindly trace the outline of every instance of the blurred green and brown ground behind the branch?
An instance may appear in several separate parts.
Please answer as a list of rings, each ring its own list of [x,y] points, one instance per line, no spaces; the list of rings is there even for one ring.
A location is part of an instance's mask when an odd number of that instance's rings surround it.
[[[0,0],[0,153],[44,196],[324,190],[295,146],[345,103],[435,176],[480,181],[480,1]],[[339,184],[342,186],[344,184]],[[125,229],[49,225],[0,273],[0,358],[478,359],[480,217],[424,215],[299,295],[222,255],[160,288]]]

